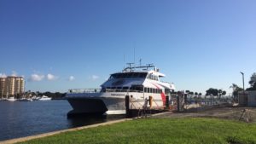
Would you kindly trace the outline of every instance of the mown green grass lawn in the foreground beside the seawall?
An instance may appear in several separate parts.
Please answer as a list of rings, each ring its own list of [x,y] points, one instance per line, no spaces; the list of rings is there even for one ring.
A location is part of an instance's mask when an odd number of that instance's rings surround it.
[[[256,125],[215,118],[147,118],[23,143],[256,143]]]

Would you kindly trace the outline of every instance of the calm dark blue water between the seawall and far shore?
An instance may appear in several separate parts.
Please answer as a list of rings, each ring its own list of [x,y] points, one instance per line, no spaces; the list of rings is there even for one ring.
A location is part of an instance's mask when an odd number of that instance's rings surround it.
[[[118,118],[67,118],[70,110],[67,101],[0,101],[0,141]]]

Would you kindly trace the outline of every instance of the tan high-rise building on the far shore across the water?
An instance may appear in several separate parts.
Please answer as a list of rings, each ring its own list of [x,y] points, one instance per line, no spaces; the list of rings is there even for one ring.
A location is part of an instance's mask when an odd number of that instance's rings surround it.
[[[24,86],[23,77],[0,78],[0,96],[6,98],[11,95],[21,95],[24,93]]]

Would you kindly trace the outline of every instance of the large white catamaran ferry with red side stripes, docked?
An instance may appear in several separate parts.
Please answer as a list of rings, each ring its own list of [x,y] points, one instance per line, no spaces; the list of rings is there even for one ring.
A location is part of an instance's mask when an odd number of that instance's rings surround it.
[[[130,65],[122,72],[111,74],[101,85],[102,89],[69,89],[66,99],[73,110],[67,115],[125,113],[125,95],[140,101],[137,108],[143,106],[148,96],[153,97],[154,107],[163,107],[166,95],[175,89],[173,84],[160,81],[163,77],[165,74],[152,64]]]

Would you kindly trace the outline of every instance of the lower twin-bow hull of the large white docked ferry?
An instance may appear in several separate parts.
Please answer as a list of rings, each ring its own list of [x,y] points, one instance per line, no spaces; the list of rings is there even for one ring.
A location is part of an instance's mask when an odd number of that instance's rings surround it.
[[[136,102],[131,102],[130,107],[139,109],[143,108],[146,99],[149,95],[143,93],[125,93],[125,92],[113,92],[113,93],[80,93],[80,94],[68,94],[66,95],[67,101],[73,107],[72,114],[125,114],[125,95],[133,97]],[[136,96],[135,96],[136,95]],[[154,107],[162,107],[163,101],[160,99],[160,95],[154,95]],[[147,102],[146,102],[146,105]]]

